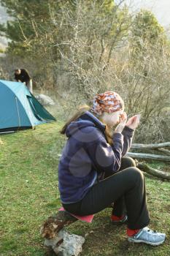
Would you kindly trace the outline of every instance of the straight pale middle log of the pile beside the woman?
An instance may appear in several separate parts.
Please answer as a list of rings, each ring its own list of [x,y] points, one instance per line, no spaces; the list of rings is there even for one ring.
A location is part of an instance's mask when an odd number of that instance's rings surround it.
[[[128,152],[127,154],[125,154],[125,156],[136,158],[136,159],[153,159],[153,160],[158,160],[163,162],[170,162],[170,157],[161,156],[159,154],[144,154],[144,153]]]

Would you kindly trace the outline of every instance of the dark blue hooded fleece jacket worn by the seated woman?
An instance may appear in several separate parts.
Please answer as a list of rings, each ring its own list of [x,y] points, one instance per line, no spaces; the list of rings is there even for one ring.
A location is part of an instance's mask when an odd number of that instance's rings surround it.
[[[68,140],[58,166],[62,203],[80,201],[101,173],[116,173],[121,158],[131,146],[134,130],[128,127],[113,135],[113,146],[107,143],[105,125],[86,112],[66,128]]]

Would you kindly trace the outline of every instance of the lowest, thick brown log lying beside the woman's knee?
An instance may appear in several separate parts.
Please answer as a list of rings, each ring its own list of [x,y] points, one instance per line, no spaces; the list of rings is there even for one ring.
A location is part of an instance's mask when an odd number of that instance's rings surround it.
[[[156,176],[158,178],[166,178],[167,180],[170,181],[170,173],[165,173],[162,170],[156,170],[146,164],[144,164],[143,162],[139,162],[137,164],[137,166],[140,170],[143,170],[146,173],[149,173],[153,176]]]

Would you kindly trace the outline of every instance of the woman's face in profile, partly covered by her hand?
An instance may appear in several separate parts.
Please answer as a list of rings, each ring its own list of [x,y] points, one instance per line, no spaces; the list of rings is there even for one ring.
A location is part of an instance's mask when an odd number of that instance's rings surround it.
[[[112,128],[114,127],[116,124],[120,123],[120,118],[121,115],[123,114],[124,110],[119,110],[113,113],[107,113],[104,112],[103,116],[102,116],[102,120],[104,122],[104,124],[107,124],[108,127]]]

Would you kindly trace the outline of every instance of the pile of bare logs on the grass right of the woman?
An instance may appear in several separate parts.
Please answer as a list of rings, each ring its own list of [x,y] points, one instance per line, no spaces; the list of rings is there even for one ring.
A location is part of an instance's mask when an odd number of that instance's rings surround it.
[[[152,159],[152,160],[158,160],[162,162],[170,162],[170,142],[166,143],[156,143],[156,144],[138,144],[134,143],[132,144],[131,148],[133,149],[139,149],[140,151],[143,149],[147,150],[154,150],[158,152],[162,152],[161,154],[146,154],[146,153],[134,153],[134,152],[128,152],[126,155],[128,157],[132,157],[135,159]],[[170,180],[170,173],[165,173],[161,170],[156,170],[148,165],[146,165],[144,162],[138,162],[137,167],[139,167],[140,170],[143,170],[146,173],[150,173],[153,176],[157,176],[158,178],[165,178],[167,180]]]

